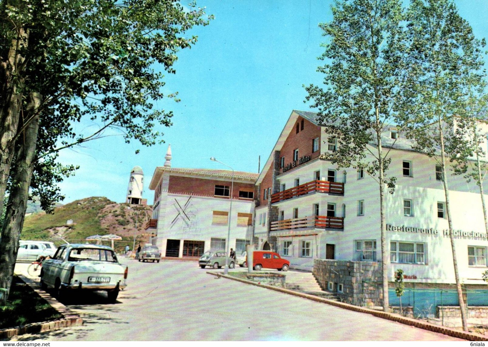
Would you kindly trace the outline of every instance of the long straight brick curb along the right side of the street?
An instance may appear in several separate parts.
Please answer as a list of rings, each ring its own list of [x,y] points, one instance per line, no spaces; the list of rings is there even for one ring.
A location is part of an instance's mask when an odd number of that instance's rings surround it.
[[[309,299],[309,300],[313,300],[313,301],[316,301],[316,302],[320,302],[320,303],[332,305],[332,306],[335,306],[335,307],[345,308],[345,309],[348,309],[350,311],[368,313],[368,314],[371,314],[371,315],[373,315],[375,317],[387,319],[389,321],[398,322],[398,323],[401,323],[401,324],[413,326],[415,328],[421,328],[421,329],[424,329],[424,330],[438,332],[438,333],[441,333],[441,334],[444,334],[444,335],[448,335],[448,336],[452,336],[452,337],[457,337],[457,338],[465,339],[465,340],[468,340],[468,341],[488,341],[488,336],[476,334],[474,332],[467,332],[467,331],[462,331],[462,330],[455,330],[455,329],[452,329],[452,328],[446,328],[446,327],[443,327],[443,326],[438,326],[438,325],[435,325],[435,324],[431,324],[431,323],[419,321],[419,320],[416,320],[416,319],[413,319],[413,318],[403,317],[403,316],[401,316],[399,314],[395,314],[395,313],[389,313],[389,312],[383,312],[383,311],[376,311],[374,309],[364,308],[364,307],[360,307],[360,306],[354,306],[354,305],[351,305],[351,304],[346,304],[346,303],[342,303],[342,302],[339,302],[339,301],[329,300],[329,299],[321,298],[319,296],[305,294],[305,293],[298,292],[298,291],[293,291],[293,290],[290,290],[290,289],[285,289],[285,288],[280,288],[280,287],[274,287],[274,286],[268,286],[268,285],[265,285],[265,284],[259,284],[259,283],[253,282],[253,281],[245,280],[243,278],[238,278],[238,277],[233,277],[233,276],[229,276],[229,275],[224,275],[221,272],[207,271],[207,273],[208,274],[211,274],[211,275],[214,275],[214,276],[224,277],[224,278],[231,279],[231,280],[234,280],[234,281],[242,282],[242,283],[245,283],[245,284],[250,284],[250,285],[253,285],[253,286],[257,286],[257,287],[262,287],[262,288],[265,288],[265,289],[271,289],[271,290],[275,290],[275,291],[280,291],[280,292],[285,293],[285,294],[290,294],[290,295],[302,297],[302,298],[305,298],[305,299]]]

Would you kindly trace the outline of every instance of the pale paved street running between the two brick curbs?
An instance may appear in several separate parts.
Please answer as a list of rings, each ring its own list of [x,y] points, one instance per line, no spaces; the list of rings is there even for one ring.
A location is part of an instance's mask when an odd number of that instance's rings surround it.
[[[116,304],[107,304],[104,293],[63,302],[81,314],[83,326],[14,340],[456,341],[369,314],[219,279],[196,262],[121,262],[129,265],[129,282]],[[20,264],[16,271],[25,268]]]

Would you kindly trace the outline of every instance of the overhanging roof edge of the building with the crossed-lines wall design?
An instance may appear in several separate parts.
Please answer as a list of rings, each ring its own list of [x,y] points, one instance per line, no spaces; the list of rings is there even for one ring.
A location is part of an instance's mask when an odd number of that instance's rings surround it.
[[[167,168],[164,166],[156,167],[154,170],[149,189],[154,190],[161,179],[163,173],[174,174],[177,176],[200,176],[201,178],[232,178],[232,170],[214,170],[214,169],[191,169],[191,168]],[[242,183],[256,182],[259,174],[248,173],[244,171],[234,171],[234,181]]]

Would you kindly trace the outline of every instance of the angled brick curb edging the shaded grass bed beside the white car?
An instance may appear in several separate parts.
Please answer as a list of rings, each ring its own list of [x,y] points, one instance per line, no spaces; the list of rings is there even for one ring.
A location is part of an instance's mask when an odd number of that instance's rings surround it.
[[[22,334],[36,334],[40,332],[45,332],[49,330],[55,330],[66,327],[81,326],[83,324],[83,319],[81,319],[79,314],[73,313],[69,308],[61,304],[58,300],[54,299],[51,295],[45,291],[38,289],[37,282],[18,274],[19,278],[30,288],[32,288],[41,298],[46,300],[52,308],[57,310],[63,318],[55,321],[47,322],[37,322],[25,324],[14,328],[0,329],[0,338],[10,338],[16,335]]]

